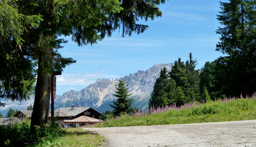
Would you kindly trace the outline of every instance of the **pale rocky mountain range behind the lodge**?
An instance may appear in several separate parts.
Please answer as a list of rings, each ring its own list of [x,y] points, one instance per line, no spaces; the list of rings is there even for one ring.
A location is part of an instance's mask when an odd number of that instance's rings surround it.
[[[171,66],[172,64],[156,64],[146,71],[139,70],[134,74],[122,77],[126,84],[128,84],[129,91],[132,94],[131,97],[134,98],[133,106],[141,109],[147,108],[150,94],[161,69],[166,67],[167,71],[170,71]],[[99,112],[112,110],[109,104],[112,104],[116,99],[113,94],[115,93],[115,84],[117,83],[118,79],[98,79],[80,91],[70,90],[62,95],[56,95],[54,109],[71,107],[74,104],[75,106],[81,105],[82,107],[90,106]],[[10,100],[4,99],[1,99],[1,101],[6,103],[6,107],[0,107],[1,114],[5,116],[10,107],[15,110],[26,109],[29,104],[34,103],[34,96],[31,96],[29,101],[23,102],[13,103]]]

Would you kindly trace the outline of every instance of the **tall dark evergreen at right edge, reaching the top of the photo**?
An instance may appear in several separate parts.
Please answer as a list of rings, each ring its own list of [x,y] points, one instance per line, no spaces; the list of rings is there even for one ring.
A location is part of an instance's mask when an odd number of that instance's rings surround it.
[[[220,2],[217,16],[221,27],[216,31],[220,41],[216,50],[227,56],[216,62],[216,92],[238,96],[256,90],[256,1]]]

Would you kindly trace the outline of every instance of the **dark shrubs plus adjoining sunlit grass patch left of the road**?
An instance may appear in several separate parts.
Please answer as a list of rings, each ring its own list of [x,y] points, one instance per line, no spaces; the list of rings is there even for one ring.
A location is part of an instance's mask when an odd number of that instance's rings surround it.
[[[90,133],[82,128],[62,129],[57,123],[45,124],[44,127],[36,127],[34,133],[30,133],[30,120],[10,122],[6,126],[0,126],[3,134],[0,138],[0,146],[28,146],[28,147],[52,147],[52,146],[104,146],[105,139],[99,134]]]

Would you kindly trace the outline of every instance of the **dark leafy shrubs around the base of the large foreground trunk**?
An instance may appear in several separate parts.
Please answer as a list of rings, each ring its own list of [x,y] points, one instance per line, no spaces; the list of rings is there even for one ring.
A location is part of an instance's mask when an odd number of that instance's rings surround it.
[[[52,142],[54,138],[59,137],[65,131],[58,127],[57,124],[50,126],[44,124],[40,128],[36,126],[35,133],[30,134],[30,120],[25,119],[21,122],[12,123],[6,126],[0,126],[1,134],[0,146],[33,146],[44,142]]]

